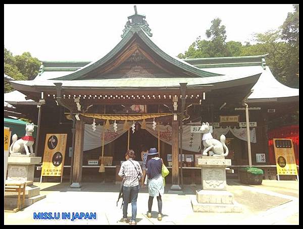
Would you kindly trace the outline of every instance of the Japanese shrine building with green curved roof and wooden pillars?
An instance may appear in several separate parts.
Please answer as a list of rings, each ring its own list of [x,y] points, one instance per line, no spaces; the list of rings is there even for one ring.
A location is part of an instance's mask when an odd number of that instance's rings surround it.
[[[47,133],[67,133],[64,175],[71,176],[72,187],[80,187],[82,175],[99,176],[98,166],[90,166],[88,161],[98,160],[102,152],[113,157],[110,169],[120,165],[128,148],[141,160],[141,145],[157,147],[165,164],[171,165],[172,189],[178,189],[182,120],[183,154],[201,153],[201,134],[191,133],[190,126],[209,122],[215,138],[226,135],[232,165],[248,164],[246,129],[239,129],[245,111],[237,109],[246,102],[255,108],[249,111],[249,121],[257,123],[251,128],[252,163],[272,164],[267,122],[297,109],[298,89],[274,78],[266,66],[266,54],[180,60],[151,40],[145,16],[135,13],[128,19],[121,41],[102,59],[45,61],[34,80],[11,81],[28,99],[38,102],[43,96],[45,100],[37,156],[43,156]],[[269,113],[269,109],[275,112]],[[256,154],[265,154],[265,161],[257,161]],[[184,166],[194,167],[194,160],[185,161]],[[109,173],[115,177],[113,171]]]

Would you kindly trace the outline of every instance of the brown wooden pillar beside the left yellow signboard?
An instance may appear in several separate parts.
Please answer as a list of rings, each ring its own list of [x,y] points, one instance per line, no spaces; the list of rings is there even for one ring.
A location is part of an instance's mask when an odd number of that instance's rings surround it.
[[[75,149],[73,154],[73,177],[71,188],[81,188],[83,160],[84,122],[76,122]]]

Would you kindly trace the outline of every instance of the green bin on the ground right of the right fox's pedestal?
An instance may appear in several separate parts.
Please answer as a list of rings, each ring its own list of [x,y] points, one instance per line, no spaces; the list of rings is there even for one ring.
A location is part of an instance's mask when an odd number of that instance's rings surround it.
[[[244,167],[239,169],[239,180],[247,185],[261,185],[263,170],[256,167]]]

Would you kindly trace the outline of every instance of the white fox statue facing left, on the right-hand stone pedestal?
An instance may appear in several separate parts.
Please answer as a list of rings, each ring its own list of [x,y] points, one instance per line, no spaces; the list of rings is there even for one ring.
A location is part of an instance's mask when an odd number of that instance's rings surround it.
[[[225,136],[222,134],[220,136],[220,141],[217,139],[214,139],[212,134],[210,133],[210,125],[209,123],[202,123],[202,126],[200,127],[200,130],[203,132],[203,155],[207,156],[208,151],[213,152],[213,156],[224,156],[226,157],[228,155],[228,148],[225,145]],[[223,150],[223,147],[225,148],[225,153]]]

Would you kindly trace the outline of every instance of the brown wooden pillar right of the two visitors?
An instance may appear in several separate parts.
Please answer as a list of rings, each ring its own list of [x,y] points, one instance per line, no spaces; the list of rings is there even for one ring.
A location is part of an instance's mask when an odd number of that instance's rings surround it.
[[[181,190],[179,185],[179,122],[172,120],[172,186],[171,190]]]

